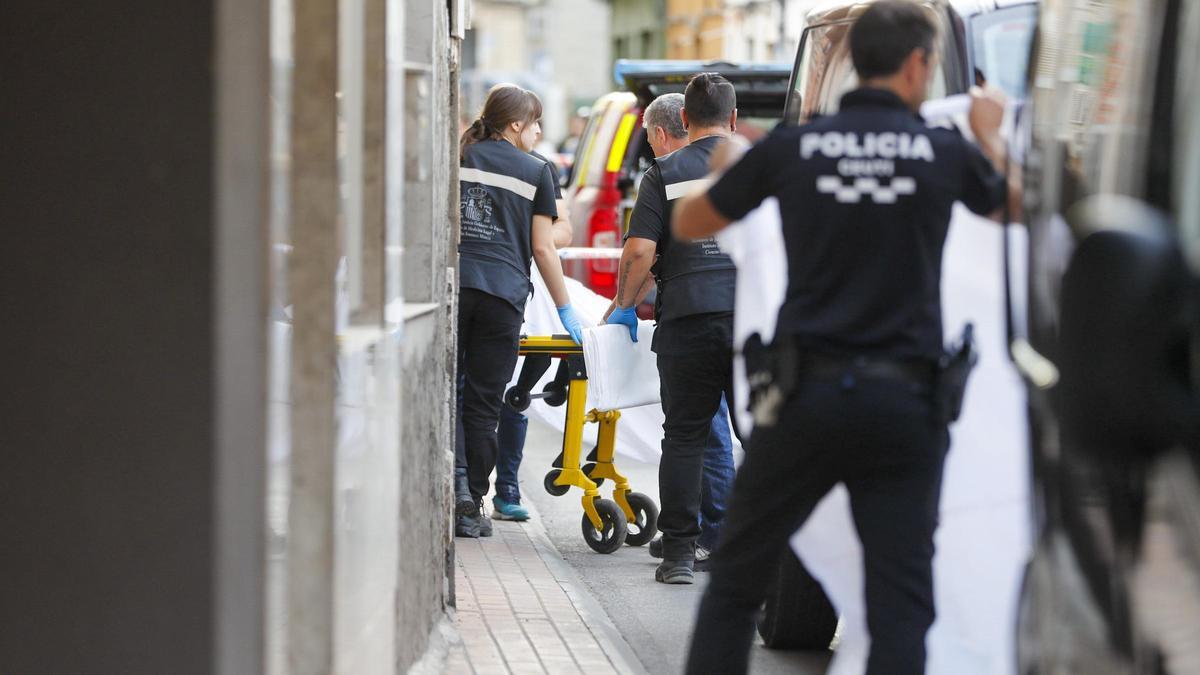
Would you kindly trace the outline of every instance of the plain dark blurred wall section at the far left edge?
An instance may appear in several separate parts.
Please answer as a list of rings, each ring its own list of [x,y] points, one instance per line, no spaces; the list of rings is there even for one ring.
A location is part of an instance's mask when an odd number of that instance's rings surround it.
[[[216,34],[4,7],[0,673],[216,671]]]

